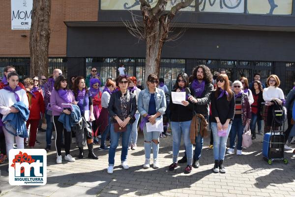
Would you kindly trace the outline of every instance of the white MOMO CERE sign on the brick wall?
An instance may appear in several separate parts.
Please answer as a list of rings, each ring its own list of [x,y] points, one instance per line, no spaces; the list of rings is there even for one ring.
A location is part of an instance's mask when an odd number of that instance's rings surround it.
[[[11,29],[30,29],[33,0],[11,0]]]

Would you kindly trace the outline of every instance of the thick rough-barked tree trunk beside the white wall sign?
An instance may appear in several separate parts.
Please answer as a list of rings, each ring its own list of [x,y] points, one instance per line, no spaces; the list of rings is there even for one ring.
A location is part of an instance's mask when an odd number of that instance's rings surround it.
[[[30,76],[48,76],[51,0],[33,0],[30,29]]]

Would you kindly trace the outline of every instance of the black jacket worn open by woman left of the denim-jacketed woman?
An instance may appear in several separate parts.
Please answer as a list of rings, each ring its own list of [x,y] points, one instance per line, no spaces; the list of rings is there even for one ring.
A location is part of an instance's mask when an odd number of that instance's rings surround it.
[[[120,104],[120,97],[122,93],[121,91],[115,92],[111,94],[110,102],[109,102],[109,115],[111,116],[111,122],[117,122],[114,117],[116,115],[121,114],[121,104]],[[137,111],[137,105],[136,105],[136,96],[132,92],[127,91],[127,101],[128,101],[128,106],[127,106],[127,111],[128,111],[128,116],[131,118],[129,123],[132,124],[135,121],[135,113]],[[124,121],[124,120],[122,120]]]

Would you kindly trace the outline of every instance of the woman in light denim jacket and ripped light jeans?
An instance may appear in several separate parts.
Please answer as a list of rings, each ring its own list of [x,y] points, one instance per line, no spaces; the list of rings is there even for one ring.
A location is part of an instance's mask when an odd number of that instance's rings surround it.
[[[145,136],[145,153],[146,161],[144,168],[149,168],[150,150],[153,152],[153,168],[159,168],[158,152],[159,152],[159,137],[160,132],[147,132],[146,123],[154,124],[156,120],[163,120],[163,114],[166,111],[166,98],[163,90],[156,87],[159,83],[156,75],[150,74],[148,76],[147,87],[142,90],[138,96],[138,111],[142,115],[141,129]]]

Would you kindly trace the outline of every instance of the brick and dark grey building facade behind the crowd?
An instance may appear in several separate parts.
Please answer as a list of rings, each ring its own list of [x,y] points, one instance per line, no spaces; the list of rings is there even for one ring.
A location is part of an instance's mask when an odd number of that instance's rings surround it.
[[[1,8],[0,66],[19,66],[29,76],[29,30],[11,30],[11,0]],[[153,6],[155,0],[148,0]],[[167,9],[179,0],[171,0]],[[206,64],[225,68],[231,80],[252,81],[260,72],[283,81],[285,93],[295,81],[295,0],[196,0],[180,11],[165,43],[160,77],[171,88],[179,72]],[[49,62],[69,76],[89,74],[96,66],[103,79],[116,77],[120,62],[127,74],[144,82],[145,41],[124,25],[141,16],[139,0],[52,0]],[[137,17],[141,20],[140,17]],[[103,80],[105,81],[105,80]]]

